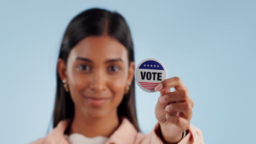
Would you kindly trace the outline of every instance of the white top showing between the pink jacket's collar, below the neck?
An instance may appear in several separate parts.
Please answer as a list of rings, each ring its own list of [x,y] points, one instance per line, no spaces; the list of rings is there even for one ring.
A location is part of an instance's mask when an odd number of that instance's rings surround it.
[[[71,144],[104,144],[108,140],[108,137],[104,136],[86,137],[78,133],[73,133],[69,136],[65,135],[65,137]]]

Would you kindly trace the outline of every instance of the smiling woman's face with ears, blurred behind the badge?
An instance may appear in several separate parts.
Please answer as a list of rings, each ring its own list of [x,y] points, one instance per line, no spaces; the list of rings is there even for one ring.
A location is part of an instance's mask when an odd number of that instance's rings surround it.
[[[90,36],[73,47],[67,66],[59,59],[58,71],[67,81],[75,110],[102,117],[117,112],[133,79],[134,63],[129,65],[127,50],[118,40]]]

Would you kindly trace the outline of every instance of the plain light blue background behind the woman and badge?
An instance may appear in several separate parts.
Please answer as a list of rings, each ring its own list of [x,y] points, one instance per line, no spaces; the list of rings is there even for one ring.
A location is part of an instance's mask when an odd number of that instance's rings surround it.
[[[68,22],[92,7],[117,10],[132,31],[136,64],[156,58],[195,101],[205,143],[255,141],[255,1],[1,1],[1,143],[46,134],[57,55]],[[156,123],[159,93],[136,86],[139,125]]]

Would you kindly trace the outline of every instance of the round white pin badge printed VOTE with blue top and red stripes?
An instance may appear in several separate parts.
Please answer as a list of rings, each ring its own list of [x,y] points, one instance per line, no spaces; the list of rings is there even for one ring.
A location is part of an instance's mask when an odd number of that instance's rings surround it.
[[[144,59],[135,70],[137,85],[146,92],[156,92],[155,87],[167,79],[165,65],[154,58]]]

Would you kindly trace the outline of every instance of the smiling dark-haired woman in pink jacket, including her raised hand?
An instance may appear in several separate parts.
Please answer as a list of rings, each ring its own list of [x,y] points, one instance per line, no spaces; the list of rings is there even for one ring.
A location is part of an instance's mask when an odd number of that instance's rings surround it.
[[[130,29],[118,13],[83,11],[69,23],[57,63],[53,131],[33,143],[203,143],[178,77],[162,81],[158,123],[139,133]],[[174,87],[175,92],[170,92]]]

